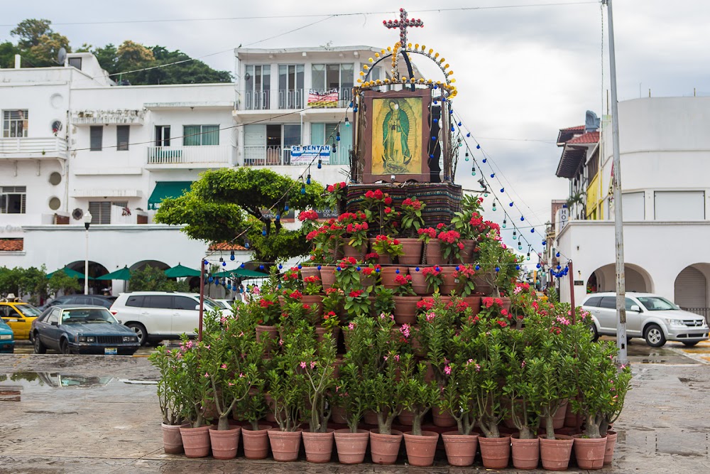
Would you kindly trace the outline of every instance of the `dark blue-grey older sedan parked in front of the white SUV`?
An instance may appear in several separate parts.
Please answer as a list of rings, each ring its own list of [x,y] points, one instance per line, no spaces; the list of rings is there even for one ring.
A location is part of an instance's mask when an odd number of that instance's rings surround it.
[[[35,354],[133,355],[141,347],[103,306],[50,306],[32,323],[31,340]]]

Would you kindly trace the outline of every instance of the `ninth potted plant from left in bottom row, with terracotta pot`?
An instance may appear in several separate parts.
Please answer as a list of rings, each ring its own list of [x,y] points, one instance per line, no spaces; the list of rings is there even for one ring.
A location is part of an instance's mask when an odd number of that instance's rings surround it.
[[[427,366],[415,364],[413,355],[401,356],[402,404],[413,416],[412,431],[404,433],[407,458],[411,465],[428,466],[434,463],[439,433],[422,431],[422,418],[439,401],[439,386],[427,382]]]

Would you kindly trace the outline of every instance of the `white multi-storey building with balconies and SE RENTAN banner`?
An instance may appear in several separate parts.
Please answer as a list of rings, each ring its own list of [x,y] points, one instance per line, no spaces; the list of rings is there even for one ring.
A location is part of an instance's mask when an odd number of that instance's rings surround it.
[[[237,49],[226,84],[117,86],[90,53],[63,67],[0,69],[0,266],[83,272],[89,210],[91,276],[195,268],[207,244],[153,215],[201,171],[267,166],[296,178],[307,166],[292,162],[291,146],[330,145],[312,179],[347,181],[354,127],[344,119],[374,51]],[[114,293],[122,288],[114,281]]]

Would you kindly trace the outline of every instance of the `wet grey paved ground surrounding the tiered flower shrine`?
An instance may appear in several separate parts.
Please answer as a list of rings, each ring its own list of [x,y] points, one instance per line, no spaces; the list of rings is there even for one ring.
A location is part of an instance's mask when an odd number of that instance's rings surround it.
[[[710,367],[675,348],[649,352],[645,347],[631,345],[633,354],[640,352],[632,356],[633,389],[615,426],[616,458],[600,472],[707,472]],[[485,471],[480,463],[466,470],[449,468],[443,458],[433,468],[417,469],[403,461],[391,467],[348,467],[165,455],[155,386],[146,384],[156,376],[145,357],[0,356],[0,387],[6,392],[6,401],[0,401],[0,473]]]

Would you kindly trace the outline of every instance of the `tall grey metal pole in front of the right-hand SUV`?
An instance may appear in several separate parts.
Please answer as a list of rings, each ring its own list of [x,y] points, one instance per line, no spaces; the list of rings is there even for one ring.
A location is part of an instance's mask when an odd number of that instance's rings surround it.
[[[626,282],[623,264],[623,215],[621,212],[621,158],[619,157],[619,114],[616,98],[616,55],[614,53],[614,23],[611,13],[611,0],[606,0],[609,16],[609,72],[611,79],[611,133],[614,151],[614,243],[616,246],[616,347],[619,350],[618,362],[628,364],[626,356]]]

